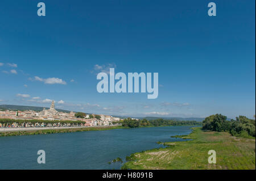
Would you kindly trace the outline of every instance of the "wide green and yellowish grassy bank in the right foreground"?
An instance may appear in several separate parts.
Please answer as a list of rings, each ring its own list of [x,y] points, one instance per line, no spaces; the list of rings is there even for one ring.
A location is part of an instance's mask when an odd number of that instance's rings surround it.
[[[131,154],[122,169],[255,169],[255,138],[201,128],[193,128],[185,137],[192,140],[166,142],[167,148]],[[208,163],[209,150],[216,151],[216,164]]]

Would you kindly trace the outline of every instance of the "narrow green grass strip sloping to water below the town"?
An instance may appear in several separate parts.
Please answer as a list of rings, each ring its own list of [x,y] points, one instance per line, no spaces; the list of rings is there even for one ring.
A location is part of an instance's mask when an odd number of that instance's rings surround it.
[[[112,127],[44,129],[44,130],[38,130],[38,131],[13,131],[13,132],[0,132],[0,137],[1,136],[35,135],[35,134],[71,133],[71,132],[84,132],[84,131],[103,131],[103,130],[121,129],[121,128],[125,128],[125,127],[112,126]]]

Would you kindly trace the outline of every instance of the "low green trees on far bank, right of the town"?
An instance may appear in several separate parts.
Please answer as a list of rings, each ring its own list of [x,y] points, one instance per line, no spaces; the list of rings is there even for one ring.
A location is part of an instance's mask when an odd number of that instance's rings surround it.
[[[184,126],[184,125],[201,125],[202,123],[199,121],[174,121],[174,120],[164,120],[164,119],[156,119],[156,120],[134,120],[131,118],[124,119],[119,123],[122,124],[123,127],[137,128],[137,127],[163,127],[163,126]]]

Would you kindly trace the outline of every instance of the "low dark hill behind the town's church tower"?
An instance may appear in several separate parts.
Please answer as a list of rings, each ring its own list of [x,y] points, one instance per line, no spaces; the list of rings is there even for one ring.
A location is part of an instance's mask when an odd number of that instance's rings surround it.
[[[36,106],[17,106],[17,105],[7,105],[7,104],[0,105],[0,110],[19,110],[19,111],[33,110],[33,111],[43,111],[43,108],[44,107],[36,107]],[[49,108],[46,107],[46,109],[49,109]],[[60,109],[55,109],[55,110],[59,111],[59,112],[67,112],[67,113],[70,112],[70,111],[67,111],[67,110],[60,110]]]

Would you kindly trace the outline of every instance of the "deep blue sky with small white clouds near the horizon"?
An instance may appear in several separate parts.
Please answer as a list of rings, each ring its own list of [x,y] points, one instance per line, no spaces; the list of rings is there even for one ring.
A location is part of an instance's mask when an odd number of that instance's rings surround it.
[[[0,104],[122,116],[255,114],[255,1],[0,2]],[[208,16],[215,2],[217,16]],[[101,69],[96,69],[100,66]],[[159,73],[159,96],[96,75]]]

